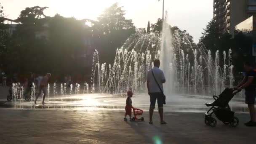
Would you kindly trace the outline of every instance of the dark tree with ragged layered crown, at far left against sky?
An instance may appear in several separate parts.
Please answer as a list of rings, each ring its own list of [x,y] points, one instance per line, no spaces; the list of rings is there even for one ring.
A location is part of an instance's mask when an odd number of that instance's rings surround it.
[[[13,63],[12,71],[40,73],[42,69],[48,70],[42,61],[48,44],[45,38],[37,37],[37,34],[46,30],[43,25],[48,22],[49,17],[41,19],[42,16],[45,16],[43,11],[46,8],[35,6],[21,11],[17,19],[19,24],[12,35],[13,44],[10,46],[10,57],[13,59],[9,61]]]

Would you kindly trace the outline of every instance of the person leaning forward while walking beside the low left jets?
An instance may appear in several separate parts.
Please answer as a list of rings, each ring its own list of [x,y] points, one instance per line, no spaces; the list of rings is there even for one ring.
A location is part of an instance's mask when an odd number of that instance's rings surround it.
[[[41,95],[42,91],[43,91],[43,102],[42,102],[42,104],[45,104],[45,96],[47,95],[47,85],[48,85],[48,80],[49,80],[50,77],[51,77],[51,74],[47,73],[47,75],[45,75],[42,78],[42,80],[40,81],[40,84],[38,86],[39,93],[37,94],[37,96],[35,98],[35,104],[37,104],[37,99]]]

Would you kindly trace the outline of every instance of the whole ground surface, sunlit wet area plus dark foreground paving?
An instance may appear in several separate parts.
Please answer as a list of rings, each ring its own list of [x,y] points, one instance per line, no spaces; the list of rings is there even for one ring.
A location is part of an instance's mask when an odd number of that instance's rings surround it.
[[[204,103],[210,96],[167,97],[167,125],[160,125],[157,109],[148,124],[149,96],[134,95],[133,106],[144,110],[145,122],[123,121],[125,95],[81,94],[51,96],[46,104],[7,102],[0,97],[0,144],[255,144],[256,128],[243,125],[249,119],[244,100],[230,101],[240,125],[232,128],[218,121],[204,123]],[[238,114],[239,113],[239,114]]]

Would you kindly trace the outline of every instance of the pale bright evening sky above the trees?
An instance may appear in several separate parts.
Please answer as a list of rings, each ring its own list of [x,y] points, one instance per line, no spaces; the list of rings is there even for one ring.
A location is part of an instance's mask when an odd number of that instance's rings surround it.
[[[125,10],[126,19],[132,19],[137,28],[147,27],[162,18],[163,0],[0,0],[9,19],[16,19],[26,7],[49,7],[46,16],[59,13],[64,17],[92,19],[111,6],[119,3]],[[171,26],[187,30],[197,43],[208,21],[213,18],[213,0],[165,0]]]

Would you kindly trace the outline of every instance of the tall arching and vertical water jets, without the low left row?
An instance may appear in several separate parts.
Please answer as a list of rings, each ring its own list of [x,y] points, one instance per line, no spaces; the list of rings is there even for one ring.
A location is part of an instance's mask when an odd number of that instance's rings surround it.
[[[233,86],[231,49],[228,57],[225,51],[221,55],[218,50],[213,58],[212,52],[203,48],[191,48],[192,53],[189,54],[181,48],[173,47],[171,39],[175,39],[177,46],[181,45],[179,37],[177,32],[174,32],[172,37],[167,22],[163,24],[162,37],[157,34],[134,34],[117,49],[112,65],[100,65],[99,52],[95,50],[91,93],[118,94],[128,90],[134,93],[147,93],[146,75],[154,59],[161,61],[160,68],[163,69],[167,80],[164,85],[167,96],[213,95]],[[136,39],[131,40],[133,38]],[[223,61],[220,61],[221,56]],[[189,61],[190,57],[194,60]]]

